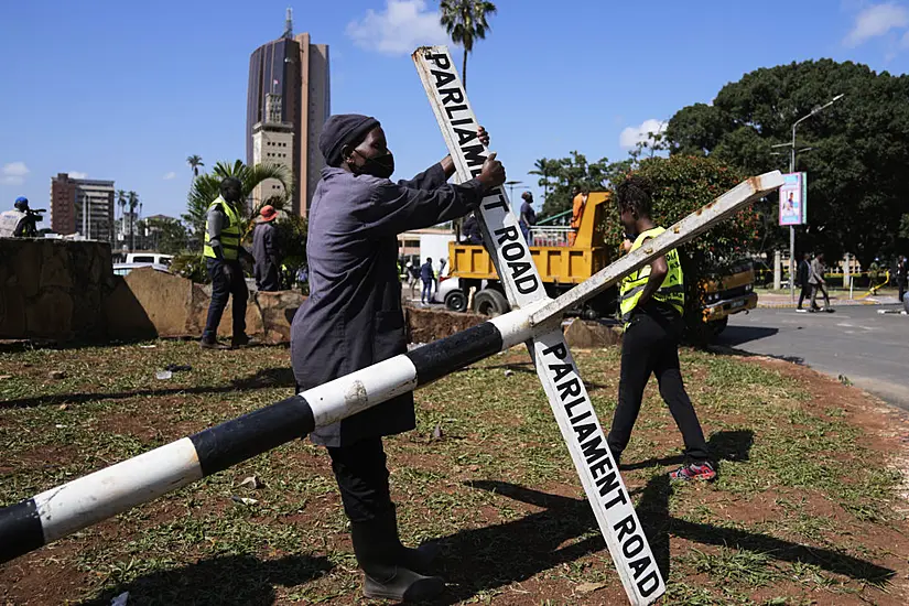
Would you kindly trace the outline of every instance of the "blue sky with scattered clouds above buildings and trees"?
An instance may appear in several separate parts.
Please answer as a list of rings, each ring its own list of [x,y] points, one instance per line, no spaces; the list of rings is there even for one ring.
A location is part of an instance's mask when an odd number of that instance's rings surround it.
[[[909,68],[909,0],[496,4],[469,58],[470,100],[538,203],[534,160],[625,158],[641,125],[751,69],[820,57]],[[134,190],[144,215],[178,216],[187,155],[244,159],[249,54],[281,34],[288,6],[295,32],[331,46],[333,111],[382,121],[397,176],[445,154],[409,57],[444,41],[432,0],[2,2],[0,207],[19,195],[44,207],[51,176],[78,172]]]

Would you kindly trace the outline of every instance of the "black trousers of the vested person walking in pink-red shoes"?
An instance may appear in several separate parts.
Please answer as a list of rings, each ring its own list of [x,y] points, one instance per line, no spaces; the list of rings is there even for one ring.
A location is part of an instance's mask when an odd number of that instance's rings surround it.
[[[618,405],[613,429],[606,441],[618,456],[631,439],[631,430],[641,408],[643,388],[651,372],[657,375],[660,396],[669,405],[685,442],[685,457],[701,462],[710,458],[704,432],[682,382],[679,368],[679,336],[682,320],[675,322],[638,313],[625,331],[621,342],[621,374],[618,383]]]

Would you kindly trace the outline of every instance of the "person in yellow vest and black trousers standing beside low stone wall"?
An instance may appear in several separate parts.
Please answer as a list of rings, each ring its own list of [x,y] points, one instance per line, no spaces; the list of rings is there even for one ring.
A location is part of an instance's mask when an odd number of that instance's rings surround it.
[[[205,221],[205,248],[203,256],[212,278],[212,302],[208,304],[208,318],[202,333],[199,345],[206,349],[220,349],[218,345],[218,324],[221,322],[227,300],[234,295],[234,333],[231,347],[249,344],[246,335],[246,302],[249,291],[244,279],[241,258],[250,258],[240,246],[240,201],[242,185],[234,177],[226,177],[220,183],[220,193],[208,207]]]

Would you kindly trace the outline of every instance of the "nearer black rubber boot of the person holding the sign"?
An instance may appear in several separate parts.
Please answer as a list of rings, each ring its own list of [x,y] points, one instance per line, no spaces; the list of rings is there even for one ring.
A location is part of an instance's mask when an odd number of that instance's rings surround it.
[[[354,553],[364,572],[364,596],[399,602],[420,602],[437,596],[445,589],[445,582],[404,565],[405,552],[398,540],[397,528],[393,515],[350,523]],[[420,550],[409,551],[420,554]]]

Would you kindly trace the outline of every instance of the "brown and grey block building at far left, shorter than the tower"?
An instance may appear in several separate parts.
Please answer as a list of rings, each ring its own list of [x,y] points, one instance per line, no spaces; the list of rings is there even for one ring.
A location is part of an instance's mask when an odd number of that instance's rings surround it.
[[[67,173],[51,177],[51,229],[62,235],[79,234],[90,240],[113,237],[113,182],[71,178]]]

